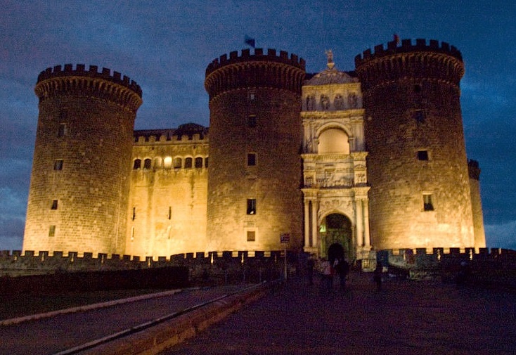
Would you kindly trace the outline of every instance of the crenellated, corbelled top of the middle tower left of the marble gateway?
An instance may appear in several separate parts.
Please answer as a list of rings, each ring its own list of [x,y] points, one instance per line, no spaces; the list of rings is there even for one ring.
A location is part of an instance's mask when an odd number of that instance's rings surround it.
[[[301,93],[304,80],[304,59],[276,49],[249,49],[224,54],[206,68],[205,89],[209,99],[225,91],[248,87],[271,87]]]

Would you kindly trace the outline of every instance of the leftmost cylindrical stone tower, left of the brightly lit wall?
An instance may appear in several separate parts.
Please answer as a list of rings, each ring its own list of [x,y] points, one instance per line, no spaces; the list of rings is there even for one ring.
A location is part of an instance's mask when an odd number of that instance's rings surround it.
[[[38,77],[23,250],[124,251],[141,89],[119,72],[60,65]]]

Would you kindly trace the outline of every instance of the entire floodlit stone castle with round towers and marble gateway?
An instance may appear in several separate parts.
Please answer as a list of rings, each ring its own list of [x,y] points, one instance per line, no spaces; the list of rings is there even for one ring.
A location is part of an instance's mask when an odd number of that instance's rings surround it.
[[[372,250],[485,247],[460,51],[392,41],[356,56],[349,72],[327,56],[315,75],[271,49],[213,60],[209,129],[134,131],[136,82],[96,66],[41,72],[23,250],[288,248],[359,260]]]

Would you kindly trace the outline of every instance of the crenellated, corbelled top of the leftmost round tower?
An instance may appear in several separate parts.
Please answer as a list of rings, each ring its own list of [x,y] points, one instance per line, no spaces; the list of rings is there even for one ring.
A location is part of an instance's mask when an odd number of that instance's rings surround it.
[[[105,67],[98,71],[96,65],[90,65],[88,70],[84,64],[77,64],[75,69],[72,64],[49,67],[39,73],[34,91],[40,102],[49,96],[79,92],[107,98],[134,112],[142,103],[141,87],[134,80]]]

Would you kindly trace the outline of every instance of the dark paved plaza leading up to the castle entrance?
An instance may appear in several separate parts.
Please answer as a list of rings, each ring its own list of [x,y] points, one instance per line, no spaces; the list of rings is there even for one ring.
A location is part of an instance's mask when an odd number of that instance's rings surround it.
[[[292,279],[172,354],[516,354],[516,294],[352,272],[345,292]]]

